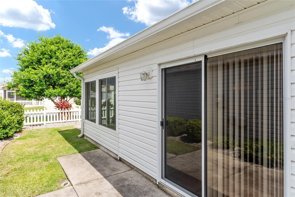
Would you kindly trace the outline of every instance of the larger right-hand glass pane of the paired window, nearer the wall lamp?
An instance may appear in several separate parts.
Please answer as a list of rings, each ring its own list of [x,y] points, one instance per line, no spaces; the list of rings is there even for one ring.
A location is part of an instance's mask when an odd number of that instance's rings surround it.
[[[116,77],[99,80],[99,124],[116,130]]]

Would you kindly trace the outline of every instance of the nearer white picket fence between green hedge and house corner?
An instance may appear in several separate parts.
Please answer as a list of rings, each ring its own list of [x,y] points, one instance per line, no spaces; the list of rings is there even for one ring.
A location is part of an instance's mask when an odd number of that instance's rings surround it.
[[[24,125],[81,121],[81,108],[71,110],[27,110]]]

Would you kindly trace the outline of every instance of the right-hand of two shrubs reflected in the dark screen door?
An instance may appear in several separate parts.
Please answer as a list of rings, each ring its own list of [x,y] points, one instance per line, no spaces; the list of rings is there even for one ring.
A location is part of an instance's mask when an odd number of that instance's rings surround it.
[[[191,140],[195,142],[201,142],[202,141],[202,121],[198,119],[190,119],[186,123],[186,134]]]

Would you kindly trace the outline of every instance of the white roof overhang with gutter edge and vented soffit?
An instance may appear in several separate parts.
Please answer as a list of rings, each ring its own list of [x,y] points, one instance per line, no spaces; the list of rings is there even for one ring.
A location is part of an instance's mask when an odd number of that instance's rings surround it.
[[[199,0],[71,70],[83,72],[266,0]]]

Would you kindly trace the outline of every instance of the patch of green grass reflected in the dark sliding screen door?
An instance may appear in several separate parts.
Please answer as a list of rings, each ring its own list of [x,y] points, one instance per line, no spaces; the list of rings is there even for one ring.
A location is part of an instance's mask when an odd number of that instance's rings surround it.
[[[197,146],[182,141],[178,141],[172,138],[166,138],[166,140],[167,152],[171,154],[181,155],[200,150],[200,148]]]

